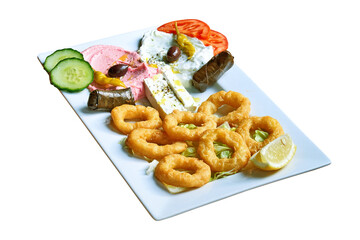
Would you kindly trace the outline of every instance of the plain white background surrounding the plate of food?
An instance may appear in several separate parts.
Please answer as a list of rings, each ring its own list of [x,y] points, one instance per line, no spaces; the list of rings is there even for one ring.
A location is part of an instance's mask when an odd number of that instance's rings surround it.
[[[1,20],[0,239],[356,239],[358,1],[11,1]],[[330,166],[155,221],[39,53],[198,18]]]

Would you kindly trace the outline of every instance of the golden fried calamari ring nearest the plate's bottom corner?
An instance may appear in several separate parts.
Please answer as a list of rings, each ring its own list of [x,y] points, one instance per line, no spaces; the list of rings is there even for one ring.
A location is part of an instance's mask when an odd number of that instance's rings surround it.
[[[176,187],[201,187],[210,181],[211,170],[206,163],[197,158],[172,154],[156,166],[155,177],[160,182]]]

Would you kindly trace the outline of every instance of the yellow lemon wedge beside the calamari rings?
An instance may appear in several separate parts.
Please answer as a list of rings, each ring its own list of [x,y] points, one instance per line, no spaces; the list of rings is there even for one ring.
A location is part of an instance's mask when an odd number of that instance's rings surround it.
[[[250,161],[262,170],[272,171],[283,168],[296,152],[296,145],[288,134],[282,135],[255,153]]]

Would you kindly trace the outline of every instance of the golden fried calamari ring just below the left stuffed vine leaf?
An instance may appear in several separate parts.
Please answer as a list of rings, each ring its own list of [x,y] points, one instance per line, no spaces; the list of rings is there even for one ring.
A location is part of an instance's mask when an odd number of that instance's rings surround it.
[[[124,104],[111,110],[113,122],[123,134],[128,134],[136,128],[159,128],[162,125],[159,112],[152,107]],[[126,122],[125,120],[137,120]]]

